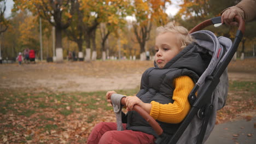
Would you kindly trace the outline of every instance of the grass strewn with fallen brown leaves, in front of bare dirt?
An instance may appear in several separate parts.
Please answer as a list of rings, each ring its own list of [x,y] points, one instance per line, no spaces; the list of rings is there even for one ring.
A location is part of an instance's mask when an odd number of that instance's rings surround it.
[[[230,81],[226,105],[231,108],[224,107],[218,111],[219,122],[229,121],[237,113],[253,110],[256,101],[254,98],[255,88],[256,82]],[[26,133],[27,128],[38,133],[38,135],[22,137],[19,141],[15,141],[17,143],[34,140],[40,134],[43,135],[46,131],[50,132],[51,130],[61,133],[61,131],[68,131],[71,128],[81,131],[79,128],[84,127],[86,133],[89,133],[89,129],[95,123],[103,121],[101,117],[105,113],[112,113],[112,107],[109,106],[105,98],[106,91],[70,93],[27,93],[25,91],[26,89],[24,92],[20,89],[0,89],[0,135],[11,136],[14,135],[12,134],[14,131]],[[135,95],[138,91],[139,88],[116,92]],[[30,127],[30,125],[32,126]],[[79,139],[72,137],[71,140],[77,139],[77,142],[80,143],[86,141],[85,137]],[[45,142],[47,143],[48,140]]]

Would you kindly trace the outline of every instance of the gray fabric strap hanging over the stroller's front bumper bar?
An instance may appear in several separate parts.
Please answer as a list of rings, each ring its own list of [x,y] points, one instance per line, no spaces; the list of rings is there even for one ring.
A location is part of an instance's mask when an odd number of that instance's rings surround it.
[[[123,123],[122,123],[122,108],[123,105],[121,105],[121,99],[125,97],[124,95],[114,93],[111,95],[111,101],[115,112],[115,117],[117,118],[117,130],[122,131]]]

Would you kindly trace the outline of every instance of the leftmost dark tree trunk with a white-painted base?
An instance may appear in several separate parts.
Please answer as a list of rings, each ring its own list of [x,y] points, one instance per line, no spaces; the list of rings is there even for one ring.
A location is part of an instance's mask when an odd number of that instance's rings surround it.
[[[61,37],[61,28],[55,28],[55,38],[56,38],[56,62],[63,62],[63,50],[62,50],[62,37]]]

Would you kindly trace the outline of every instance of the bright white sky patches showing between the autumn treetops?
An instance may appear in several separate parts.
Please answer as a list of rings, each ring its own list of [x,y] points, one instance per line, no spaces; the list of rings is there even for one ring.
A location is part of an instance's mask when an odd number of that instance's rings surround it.
[[[166,8],[166,13],[169,16],[174,16],[175,14],[177,14],[177,12],[179,10],[179,6],[178,6],[179,2],[180,1],[178,1],[178,0],[173,0],[171,5],[170,4],[166,5],[166,7],[167,7]],[[5,17],[10,16],[11,9],[13,8],[13,4],[14,4],[13,0],[7,0],[7,3],[6,3],[7,9],[6,9],[5,13],[4,13]]]

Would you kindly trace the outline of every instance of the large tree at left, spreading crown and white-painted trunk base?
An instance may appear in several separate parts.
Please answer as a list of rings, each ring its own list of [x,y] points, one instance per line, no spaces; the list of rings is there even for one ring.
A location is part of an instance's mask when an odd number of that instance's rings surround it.
[[[63,61],[62,31],[68,28],[74,13],[74,1],[72,0],[31,0],[14,1],[16,10],[30,10],[34,15],[39,15],[55,27],[56,61]],[[53,18],[52,18],[53,17]],[[54,21],[52,21],[54,20]]]

